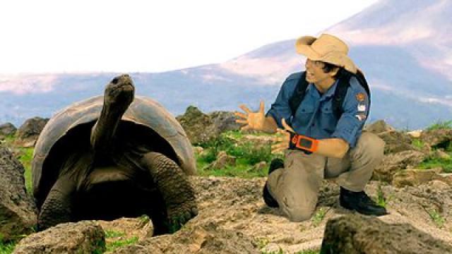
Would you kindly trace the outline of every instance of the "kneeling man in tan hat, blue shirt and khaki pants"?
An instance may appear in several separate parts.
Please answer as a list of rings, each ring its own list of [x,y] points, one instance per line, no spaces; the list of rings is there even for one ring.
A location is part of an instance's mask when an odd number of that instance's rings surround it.
[[[236,113],[237,122],[246,124],[242,129],[284,133],[273,151],[288,150],[284,161],[270,164],[264,201],[280,207],[290,220],[303,221],[316,208],[322,179],[335,178],[341,206],[387,214],[363,191],[384,147],[378,136],[362,132],[370,105],[364,75],[338,37],[305,36],[295,47],[307,57],[306,71],[285,80],[267,114],[263,102],[258,112],[241,105],[245,112]]]

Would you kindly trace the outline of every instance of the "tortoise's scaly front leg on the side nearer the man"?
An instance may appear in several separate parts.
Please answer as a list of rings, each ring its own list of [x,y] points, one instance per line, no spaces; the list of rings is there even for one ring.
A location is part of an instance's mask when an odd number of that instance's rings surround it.
[[[141,163],[149,170],[164,205],[160,207],[160,200],[155,200],[157,207],[150,214],[154,235],[178,231],[198,214],[194,190],[186,175],[172,159],[158,152],[146,153]]]

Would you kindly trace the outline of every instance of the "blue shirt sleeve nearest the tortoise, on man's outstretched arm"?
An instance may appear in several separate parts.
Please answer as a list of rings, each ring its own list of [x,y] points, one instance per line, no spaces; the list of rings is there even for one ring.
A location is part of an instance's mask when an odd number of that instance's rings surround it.
[[[281,119],[285,119],[286,123],[292,125],[292,110],[290,109],[289,99],[295,90],[296,83],[296,79],[287,78],[281,86],[275,102],[271,104],[270,109],[267,111],[266,116],[272,116],[276,123],[278,123],[279,128],[283,128]]]

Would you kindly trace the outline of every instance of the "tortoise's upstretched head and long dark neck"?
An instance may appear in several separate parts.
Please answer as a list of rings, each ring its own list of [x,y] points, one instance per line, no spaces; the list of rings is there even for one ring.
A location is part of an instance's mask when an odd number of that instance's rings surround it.
[[[91,130],[91,146],[105,154],[114,147],[114,133],[122,115],[133,101],[135,87],[129,75],[120,75],[105,88],[104,104],[99,119]]]

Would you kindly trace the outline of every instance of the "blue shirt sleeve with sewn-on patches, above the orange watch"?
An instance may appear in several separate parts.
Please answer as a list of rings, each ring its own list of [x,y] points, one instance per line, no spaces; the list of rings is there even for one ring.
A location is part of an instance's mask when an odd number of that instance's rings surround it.
[[[350,86],[345,95],[343,109],[344,112],[331,137],[342,138],[350,147],[355,147],[369,114],[369,97],[364,88],[360,85]]]

